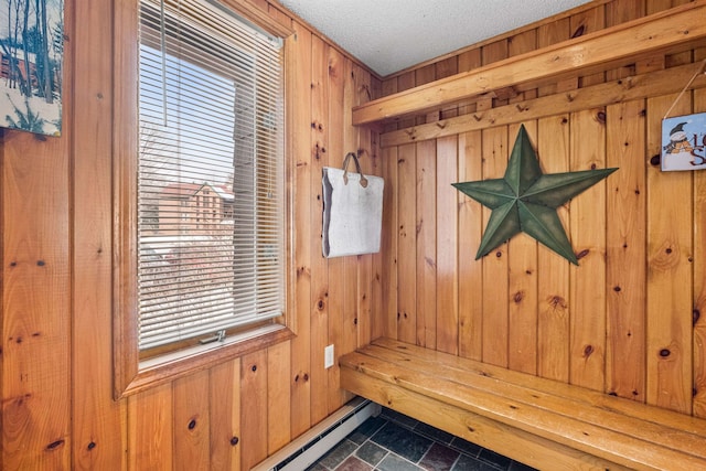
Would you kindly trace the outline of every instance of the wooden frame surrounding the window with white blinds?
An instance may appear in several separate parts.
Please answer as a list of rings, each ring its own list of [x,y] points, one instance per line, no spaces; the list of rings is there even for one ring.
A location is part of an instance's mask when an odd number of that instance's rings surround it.
[[[282,322],[266,328],[245,329],[214,342],[180,350],[175,353],[140,361],[137,307],[137,169],[138,169],[138,10],[139,0],[115,2],[114,69],[114,146],[113,146],[113,351],[114,398],[120,399],[158,384],[265,349],[296,334],[291,296],[292,257],[292,171],[287,129],[291,94],[289,51],[295,31],[265,11],[238,0],[218,0],[247,21],[270,34],[282,38],[285,54],[285,315]]]

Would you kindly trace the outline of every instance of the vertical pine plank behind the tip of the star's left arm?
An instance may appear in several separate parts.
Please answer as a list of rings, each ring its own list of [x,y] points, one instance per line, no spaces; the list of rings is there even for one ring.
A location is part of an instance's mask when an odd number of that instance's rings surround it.
[[[459,182],[482,180],[481,131],[459,135]],[[459,192],[458,309],[459,355],[481,360],[483,345],[483,263],[475,260],[483,231],[482,206]]]

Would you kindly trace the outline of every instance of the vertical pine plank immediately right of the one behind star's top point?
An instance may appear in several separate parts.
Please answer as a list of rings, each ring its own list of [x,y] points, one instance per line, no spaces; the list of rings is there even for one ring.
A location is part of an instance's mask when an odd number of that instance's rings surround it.
[[[546,173],[569,171],[570,121],[568,115],[537,121],[537,154]],[[569,231],[568,205],[557,208]],[[569,263],[539,245],[537,248],[537,374],[569,381]]]

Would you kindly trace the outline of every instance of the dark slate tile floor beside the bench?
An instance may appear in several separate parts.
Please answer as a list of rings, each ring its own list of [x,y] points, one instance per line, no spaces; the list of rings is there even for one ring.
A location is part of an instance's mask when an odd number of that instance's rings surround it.
[[[383,408],[308,471],[528,471],[522,463]]]

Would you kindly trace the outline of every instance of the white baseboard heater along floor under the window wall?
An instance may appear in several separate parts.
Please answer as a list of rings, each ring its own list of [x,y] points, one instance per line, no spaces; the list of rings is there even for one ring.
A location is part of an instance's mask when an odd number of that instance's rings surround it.
[[[296,438],[275,454],[253,468],[254,471],[301,471],[314,463],[368,417],[377,416],[381,406],[356,397]]]

